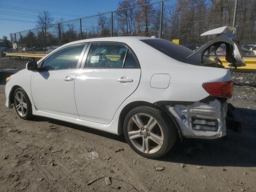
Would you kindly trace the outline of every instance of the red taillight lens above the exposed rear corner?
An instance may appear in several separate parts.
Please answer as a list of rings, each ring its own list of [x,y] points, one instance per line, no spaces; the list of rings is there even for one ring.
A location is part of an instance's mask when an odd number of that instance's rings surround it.
[[[209,94],[217,97],[227,97],[230,98],[233,93],[233,82],[209,82],[202,84],[204,90]]]

